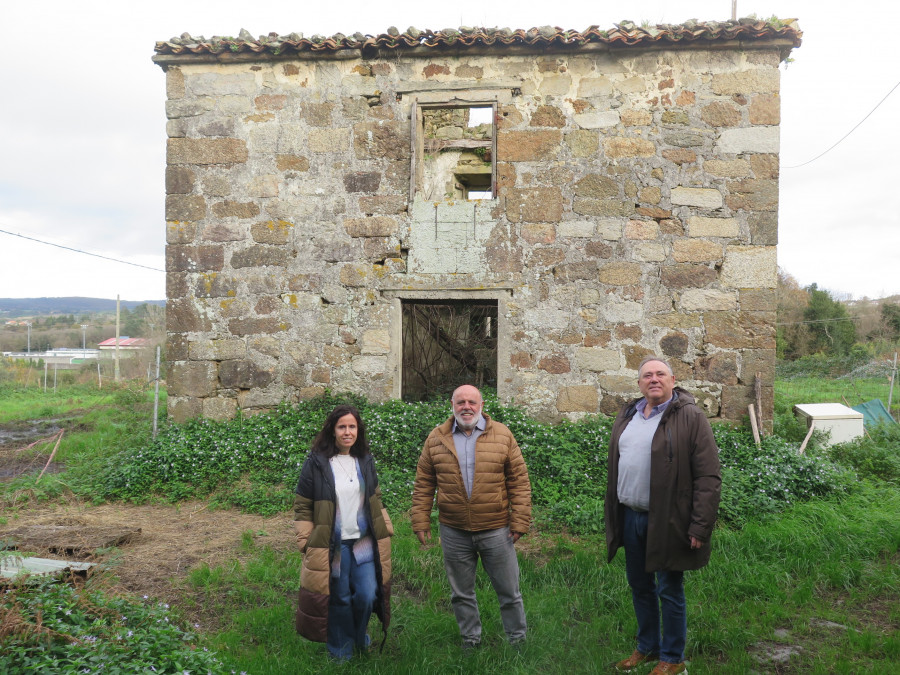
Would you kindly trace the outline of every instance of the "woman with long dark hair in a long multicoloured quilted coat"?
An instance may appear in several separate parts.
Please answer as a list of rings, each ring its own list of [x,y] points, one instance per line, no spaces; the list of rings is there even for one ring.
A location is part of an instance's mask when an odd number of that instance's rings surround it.
[[[346,660],[368,647],[373,611],[387,634],[394,534],[356,408],[339,405],[328,415],[295,492],[303,553],[297,632]]]

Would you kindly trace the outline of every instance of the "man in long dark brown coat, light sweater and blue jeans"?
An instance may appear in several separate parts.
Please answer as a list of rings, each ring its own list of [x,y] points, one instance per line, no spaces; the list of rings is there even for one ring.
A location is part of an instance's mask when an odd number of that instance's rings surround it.
[[[651,675],[685,673],[684,571],[709,562],[722,477],[706,415],[656,357],[638,368],[643,397],[626,404],[609,441],[606,546],[625,548],[637,649],[616,668],[659,661]],[[662,615],[662,635],[660,635]]]

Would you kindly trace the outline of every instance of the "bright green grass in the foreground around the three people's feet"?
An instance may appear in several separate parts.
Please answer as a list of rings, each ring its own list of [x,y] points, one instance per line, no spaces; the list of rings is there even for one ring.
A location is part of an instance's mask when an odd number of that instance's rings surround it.
[[[195,571],[186,596],[222,630],[207,644],[255,675],[332,672],[594,673],[633,647],[635,623],[623,554],[605,562],[599,537],[543,533],[520,554],[529,621],[525,649],[506,645],[496,597],[479,569],[484,646],[464,656],[440,549],[422,550],[395,520],[393,623],[383,653],[337,666],[324,646],[293,631],[299,554],[251,549],[244,564]],[[868,488],[797,506],[777,518],[720,528],[710,565],[688,573],[692,673],[775,672],[750,656],[761,643],[796,644],[791,670],[887,672],[900,647],[900,495]],[[877,609],[878,611],[871,611]],[[846,629],[823,628],[824,622]],[[370,624],[380,640],[377,621]],[[776,637],[776,630],[787,631]],[[845,664],[841,666],[841,664]],[[843,668],[843,670],[841,670]],[[649,670],[649,668],[648,668]]]

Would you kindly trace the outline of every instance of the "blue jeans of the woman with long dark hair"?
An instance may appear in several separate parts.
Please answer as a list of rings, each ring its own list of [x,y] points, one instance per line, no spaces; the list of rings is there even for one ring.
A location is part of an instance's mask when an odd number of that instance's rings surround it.
[[[375,563],[361,565],[353,557],[355,539],[341,542],[341,574],[331,577],[328,597],[328,653],[335,659],[353,656],[353,648],[369,644],[366,629],[375,604]]]

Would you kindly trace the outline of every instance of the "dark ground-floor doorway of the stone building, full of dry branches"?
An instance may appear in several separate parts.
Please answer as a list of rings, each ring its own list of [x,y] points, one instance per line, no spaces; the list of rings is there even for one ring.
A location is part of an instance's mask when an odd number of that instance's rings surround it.
[[[497,301],[404,301],[403,400],[446,399],[461,384],[497,387]]]

